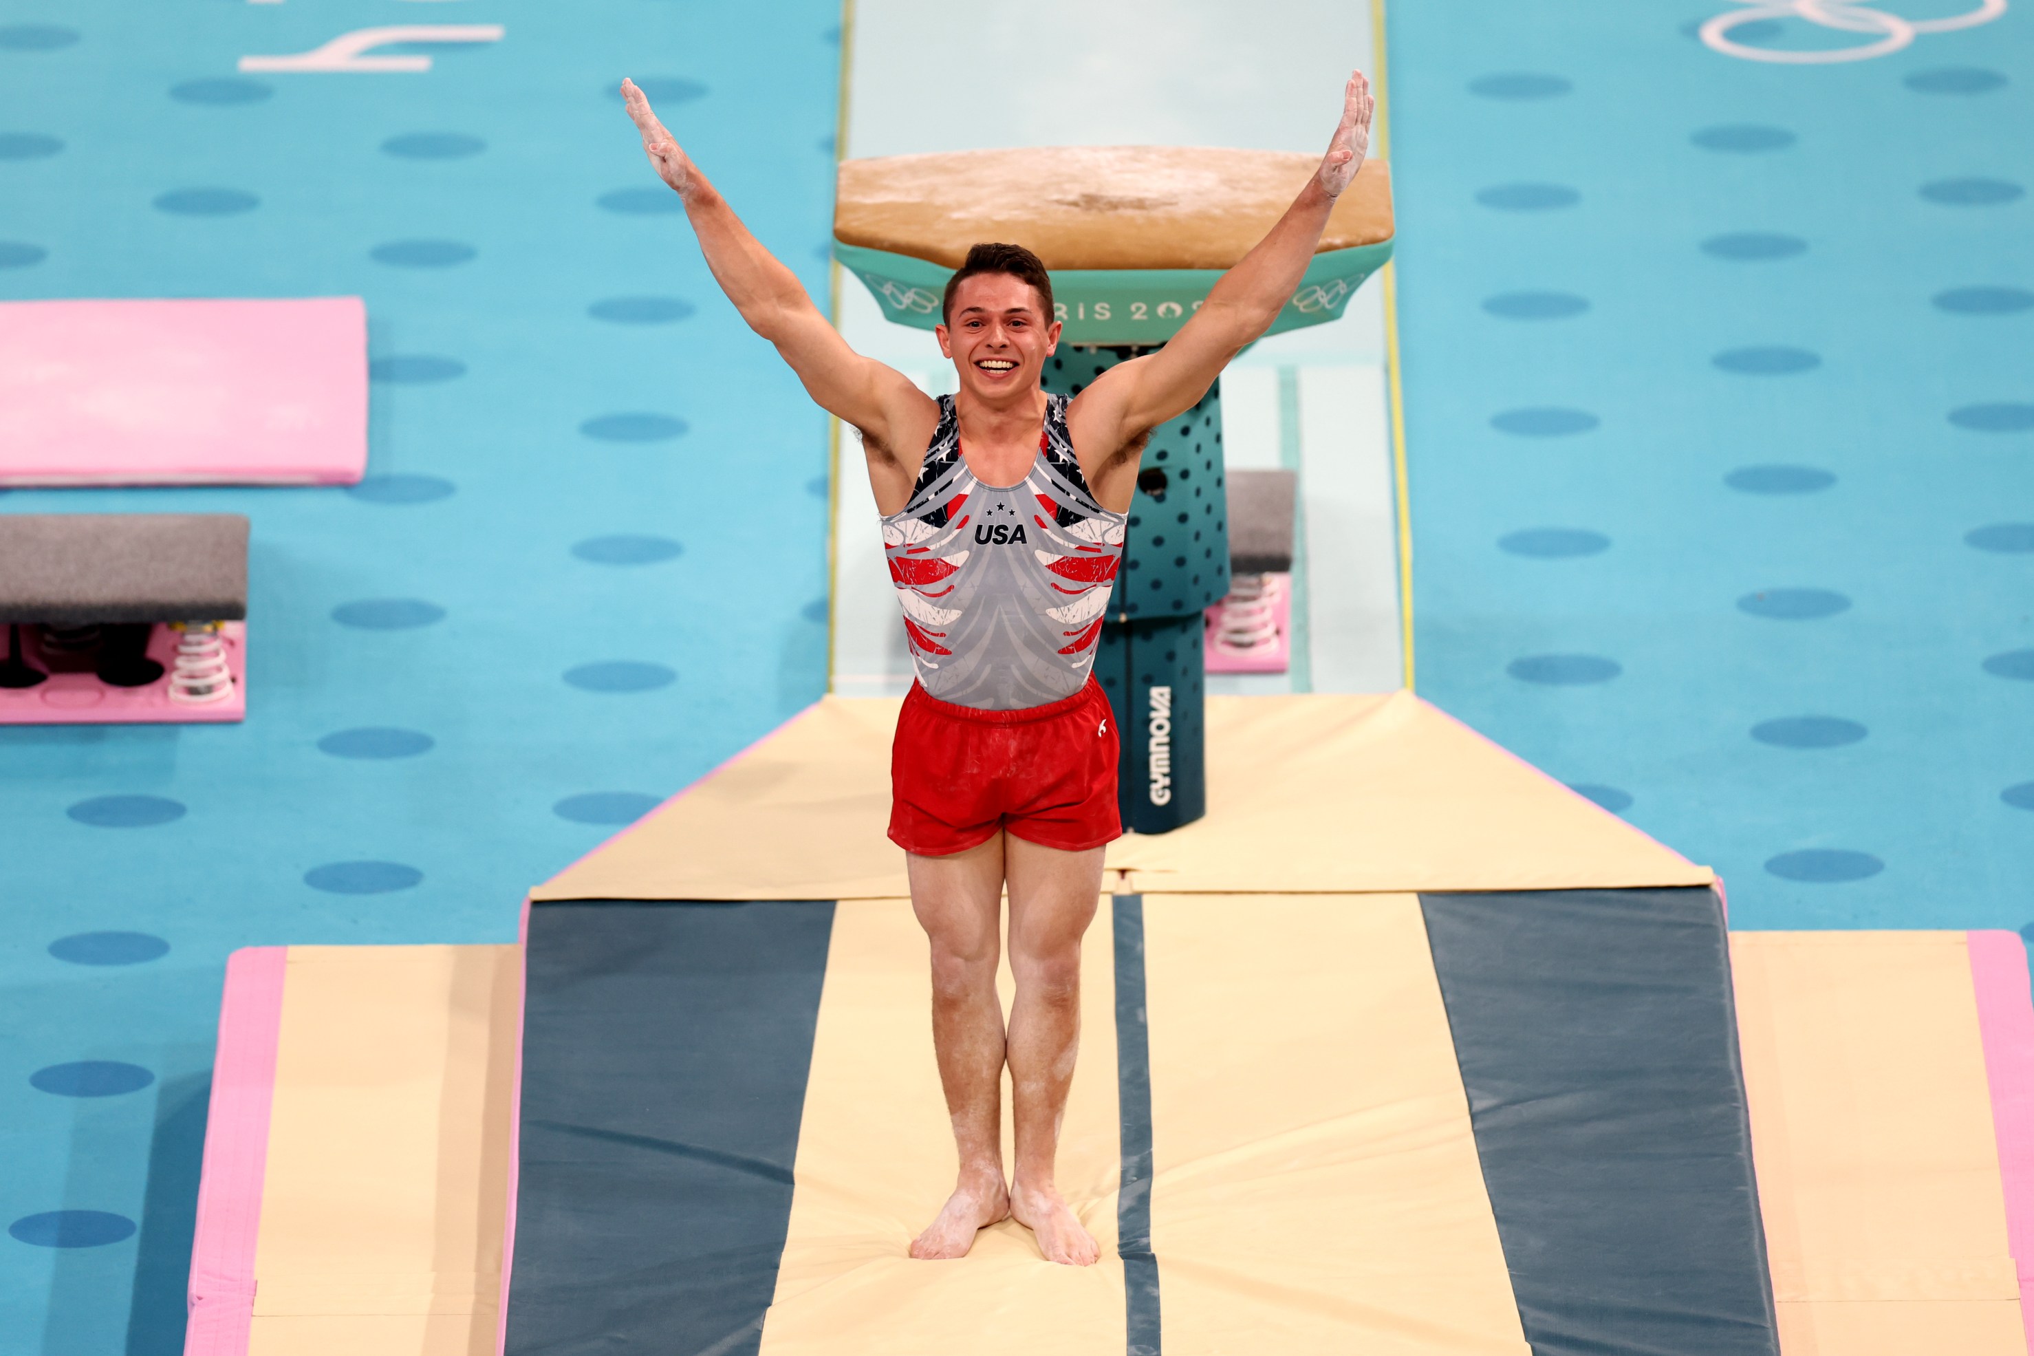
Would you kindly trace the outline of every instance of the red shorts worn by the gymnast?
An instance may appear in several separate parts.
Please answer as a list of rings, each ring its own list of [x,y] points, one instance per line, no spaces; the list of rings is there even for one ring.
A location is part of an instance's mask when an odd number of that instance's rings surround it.
[[[1100,848],[1123,836],[1117,756],[1115,716],[1092,677],[1019,712],[954,705],[911,683],[891,744],[891,842],[948,856],[1009,829],[1041,848]]]

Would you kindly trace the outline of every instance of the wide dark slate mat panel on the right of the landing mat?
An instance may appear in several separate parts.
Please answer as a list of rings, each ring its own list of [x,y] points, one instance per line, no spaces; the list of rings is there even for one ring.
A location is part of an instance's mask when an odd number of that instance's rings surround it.
[[[1420,903],[1532,1350],[1778,1356],[1715,892]]]

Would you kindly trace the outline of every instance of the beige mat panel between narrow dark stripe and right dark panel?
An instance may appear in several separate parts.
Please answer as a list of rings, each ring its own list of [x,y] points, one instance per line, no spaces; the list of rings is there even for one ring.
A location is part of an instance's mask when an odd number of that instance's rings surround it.
[[[1165,1356],[1525,1356],[1416,895],[1147,895]]]

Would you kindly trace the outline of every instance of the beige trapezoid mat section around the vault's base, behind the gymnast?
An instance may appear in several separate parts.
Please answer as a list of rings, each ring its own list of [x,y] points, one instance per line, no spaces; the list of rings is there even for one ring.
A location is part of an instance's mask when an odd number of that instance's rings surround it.
[[[897,701],[826,697],[572,864],[547,899],[909,895]],[[1109,848],[1127,890],[1709,884],[1715,874],[1412,693],[1208,697],[1208,815]]]

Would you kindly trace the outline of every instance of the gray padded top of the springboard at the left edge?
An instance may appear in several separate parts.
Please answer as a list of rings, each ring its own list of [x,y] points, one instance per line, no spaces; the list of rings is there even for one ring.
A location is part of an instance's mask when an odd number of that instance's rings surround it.
[[[0,622],[238,622],[248,520],[236,512],[0,514]]]

